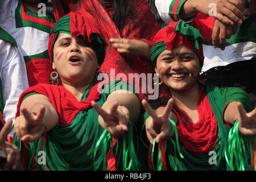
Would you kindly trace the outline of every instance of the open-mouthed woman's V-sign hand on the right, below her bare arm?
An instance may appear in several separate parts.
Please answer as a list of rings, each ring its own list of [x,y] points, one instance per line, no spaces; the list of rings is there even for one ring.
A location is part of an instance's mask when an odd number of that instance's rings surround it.
[[[102,109],[94,101],[92,101],[92,106],[99,114],[100,125],[110,134],[119,135],[128,130],[130,114],[125,106],[118,106],[118,102],[114,102],[111,106]]]

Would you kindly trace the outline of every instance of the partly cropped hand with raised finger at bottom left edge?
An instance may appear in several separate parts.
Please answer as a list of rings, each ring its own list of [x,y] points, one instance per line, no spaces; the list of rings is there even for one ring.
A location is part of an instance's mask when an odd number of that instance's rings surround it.
[[[7,135],[10,133],[10,128],[13,121],[9,119],[5,125],[3,125],[0,131],[0,152],[1,157],[6,157],[6,162],[3,166],[3,170],[9,170],[9,168],[16,169],[20,160],[20,152],[15,144],[7,142]],[[3,156],[5,155],[5,156]]]

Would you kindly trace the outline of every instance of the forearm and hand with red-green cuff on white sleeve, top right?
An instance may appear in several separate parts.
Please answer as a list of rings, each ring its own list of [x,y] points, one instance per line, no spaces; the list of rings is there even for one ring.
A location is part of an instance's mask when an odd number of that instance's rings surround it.
[[[170,23],[167,20],[187,20],[196,16],[198,13],[203,13],[208,16],[216,16],[222,23],[229,25],[245,19],[243,11],[247,6],[246,0],[156,0],[155,4],[160,16],[166,23]],[[216,10],[216,14],[214,14],[214,9]],[[170,18],[168,18],[168,15]]]

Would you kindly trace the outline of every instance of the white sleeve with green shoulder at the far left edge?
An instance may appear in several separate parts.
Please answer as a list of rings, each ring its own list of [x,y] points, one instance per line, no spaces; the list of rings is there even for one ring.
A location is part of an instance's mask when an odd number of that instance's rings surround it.
[[[26,65],[15,40],[0,28],[0,129],[8,119],[15,121],[19,95],[27,88]]]

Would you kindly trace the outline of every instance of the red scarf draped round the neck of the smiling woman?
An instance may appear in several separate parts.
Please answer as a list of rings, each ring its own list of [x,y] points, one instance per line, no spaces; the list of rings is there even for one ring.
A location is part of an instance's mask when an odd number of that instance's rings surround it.
[[[204,87],[201,86],[200,97],[197,102],[199,113],[197,123],[192,123],[184,110],[179,108],[179,111],[174,111],[179,121],[177,123],[179,140],[189,154],[199,156],[212,151],[218,141],[217,119],[208,97],[204,93]]]

